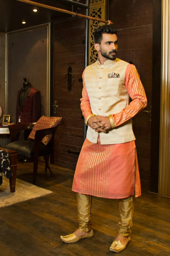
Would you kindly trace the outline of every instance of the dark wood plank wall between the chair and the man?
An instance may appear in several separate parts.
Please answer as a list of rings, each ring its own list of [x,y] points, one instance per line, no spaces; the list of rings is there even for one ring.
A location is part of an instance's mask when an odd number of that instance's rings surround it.
[[[82,18],[70,18],[54,25],[54,100],[57,114],[63,120],[54,139],[54,164],[70,169],[76,168],[77,155],[66,151],[80,152],[83,144],[83,120],[80,109],[82,77],[84,70],[84,25]],[[71,91],[67,90],[64,77],[68,67],[75,77]]]

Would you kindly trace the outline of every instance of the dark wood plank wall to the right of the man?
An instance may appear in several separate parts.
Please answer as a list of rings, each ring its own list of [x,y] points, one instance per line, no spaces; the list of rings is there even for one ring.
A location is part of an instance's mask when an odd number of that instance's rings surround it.
[[[151,0],[112,0],[109,19],[118,32],[118,58],[133,61],[144,85],[150,111],[152,93],[152,23]],[[133,118],[141,185],[149,189],[151,115],[141,112]]]

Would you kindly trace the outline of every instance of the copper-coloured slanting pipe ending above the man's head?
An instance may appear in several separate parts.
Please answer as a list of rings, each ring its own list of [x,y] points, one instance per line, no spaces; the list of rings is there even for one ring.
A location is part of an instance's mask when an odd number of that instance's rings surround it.
[[[67,13],[67,14],[70,14],[70,15],[76,15],[77,17],[81,17],[81,18],[85,18],[85,19],[87,18],[87,19],[90,19],[90,20],[93,20],[93,21],[98,21],[98,22],[103,22],[103,23],[106,23],[108,25],[113,24],[110,20],[105,21],[105,20],[93,18],[93,17],[90,17],[90,16],[86,16],[86,15],[83,15],[83,14],[79,14],[79,13],[76,13],[76,12],[67,11],[67,10],[52,7],[52,6],[49,6],[49,5],[36,3],[36,2],[33,2],[33,1],[29,1],[29,0],[15,0],[15,1],[19,1],[19,2],[22,2],[22,3],[26,3],[26,4],[31,4],[31,5],[35,5],[35,6],[40,6],[40,7],[50,9],[50,10],[54,10],[54,11],[64,12],[64,13]]]

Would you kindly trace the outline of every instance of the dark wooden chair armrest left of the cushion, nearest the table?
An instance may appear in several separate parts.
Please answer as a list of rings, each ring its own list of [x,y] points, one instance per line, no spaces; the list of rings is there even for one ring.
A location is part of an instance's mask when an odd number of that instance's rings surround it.
[[[9,132],[10,132],[10,141],[14,142],[17,135],[22,130],[29,130],[33,129],[36,123],[25,123],[25,124],[15,124],[15,125],[8,125]]]

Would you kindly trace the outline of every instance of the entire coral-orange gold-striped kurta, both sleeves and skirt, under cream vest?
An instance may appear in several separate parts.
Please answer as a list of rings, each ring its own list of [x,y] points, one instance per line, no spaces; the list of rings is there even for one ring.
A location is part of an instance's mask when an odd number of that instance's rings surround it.
[[[115,127],[123,124],[147,105],[146,94],[134,65],[128,65],[125,87],[133,99],[121,112],[113,114]],[[81,110],[85,120],[93,114],[83,83]],[[125,198],[141,195],[140,176],[135,141],[101,145],[85,140],[75,171],[72,190],[80,194],[106,198]]]

